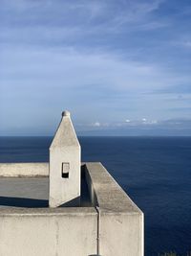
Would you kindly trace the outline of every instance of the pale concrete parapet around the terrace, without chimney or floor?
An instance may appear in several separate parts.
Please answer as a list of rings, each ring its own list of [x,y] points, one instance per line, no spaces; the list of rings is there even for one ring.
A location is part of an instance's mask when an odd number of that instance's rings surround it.
[[[0,208],[0,255],[143,256],[143,213],[100,163],[85,163],[92,207]],[[0,164],[0,176],[48,176],[48,163]]]

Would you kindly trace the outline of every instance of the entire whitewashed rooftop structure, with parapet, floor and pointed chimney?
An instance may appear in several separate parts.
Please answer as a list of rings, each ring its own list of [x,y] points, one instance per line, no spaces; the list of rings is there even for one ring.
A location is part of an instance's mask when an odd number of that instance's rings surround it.
[[[101,163],[81,165],[68,111],[50,163],[0,164],[0,256],[143,256],[143,244],[143,213]]]

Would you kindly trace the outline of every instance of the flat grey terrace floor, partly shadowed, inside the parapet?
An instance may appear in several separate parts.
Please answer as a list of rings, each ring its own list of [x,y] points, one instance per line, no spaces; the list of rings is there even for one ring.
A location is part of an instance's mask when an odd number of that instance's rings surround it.
[[[82,178],[79,207],[91,207],[87,183]],[[0,208],[40,208],[49,206],[48,177],[0,177]],[[61,207],[70,207],[64,204]]]

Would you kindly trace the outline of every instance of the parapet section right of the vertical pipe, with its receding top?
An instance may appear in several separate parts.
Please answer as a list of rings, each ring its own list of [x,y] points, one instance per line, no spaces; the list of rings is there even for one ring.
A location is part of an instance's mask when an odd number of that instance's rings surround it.
[[[100,163],[87,163],[86,176],[98,212],[98,254],[143,256],[143,213]]]

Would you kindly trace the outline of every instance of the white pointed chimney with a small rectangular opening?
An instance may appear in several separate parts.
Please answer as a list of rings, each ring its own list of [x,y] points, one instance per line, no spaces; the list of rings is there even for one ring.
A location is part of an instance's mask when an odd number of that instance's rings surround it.
[[[50,207],[80,198],[81,149],[71,121],[64,111],[50,147]]]

